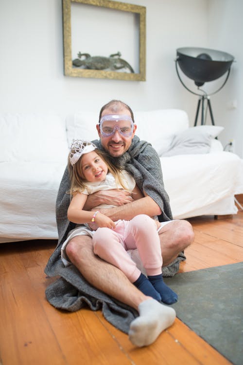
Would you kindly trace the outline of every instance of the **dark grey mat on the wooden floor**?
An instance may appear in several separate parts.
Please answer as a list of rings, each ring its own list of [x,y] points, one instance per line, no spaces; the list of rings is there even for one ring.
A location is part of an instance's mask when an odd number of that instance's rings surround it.
[[[235,365],[243,365],[243,263],[164,278],[176,316]]]

